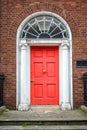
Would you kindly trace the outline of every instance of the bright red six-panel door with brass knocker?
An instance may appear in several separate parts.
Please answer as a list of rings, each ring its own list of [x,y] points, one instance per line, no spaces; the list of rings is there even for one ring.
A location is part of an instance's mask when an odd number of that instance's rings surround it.
[[[31,47],[31,104],[59,104],[58,47]]]

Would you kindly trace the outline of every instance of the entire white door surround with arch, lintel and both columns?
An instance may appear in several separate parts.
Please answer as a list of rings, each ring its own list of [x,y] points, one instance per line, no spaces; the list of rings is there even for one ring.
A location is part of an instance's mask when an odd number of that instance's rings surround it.
[[[21,31],[30,19],[39,15],[50,15],[56,17],[66,26],[68,39],[52,40],[27,40],[21,39]],[[41,11],[29,15],[23,20],[17,30],[16,37],[16,108],[28,110],[30,105],[30,46],[59,46],[59,80],[60,80],[60,101],[62,109],[73,108],[73,85],[72,85],[72,34],[69,25],[59,15]],[[23,69],[25,68],[25,69]],[[26,76],[27,75],[27,76]],[[67,95],[67,96],[66,96]]]

